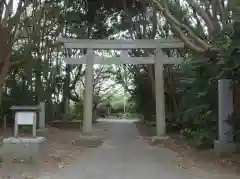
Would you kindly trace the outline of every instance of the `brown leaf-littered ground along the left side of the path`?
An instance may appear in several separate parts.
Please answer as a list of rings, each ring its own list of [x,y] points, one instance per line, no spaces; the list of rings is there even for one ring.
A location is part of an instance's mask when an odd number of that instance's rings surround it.
[[[104,124],[95,124],[93,135],[105,137],[106,129],[107,126]],[[4,137],[12,136],[10,131],[1,134]],[[48,128],[46,152],[40,160],[32,164],[25,164],[24,161],[4,163],[0,168],[0,178],[4,176],[11,178],[12,175],[17,176],[18,179],[26,179],[30,176],[34,178],[33,176],[54,173],[67,167],[84,151],[84,147],[75,145],[75,140],[81,135],[80,130]]]

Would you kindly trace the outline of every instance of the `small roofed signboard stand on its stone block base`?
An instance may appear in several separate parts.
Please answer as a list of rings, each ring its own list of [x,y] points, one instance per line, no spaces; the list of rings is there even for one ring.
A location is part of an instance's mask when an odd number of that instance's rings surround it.
[[[2,156],[5,160],[37,160],[44,151],[45,138],[36,135],[36,116],[39,106],[12,106],[15,113],[14,137],[3,139]],[[32,136],[19,137],[20,125],[31,125]]]

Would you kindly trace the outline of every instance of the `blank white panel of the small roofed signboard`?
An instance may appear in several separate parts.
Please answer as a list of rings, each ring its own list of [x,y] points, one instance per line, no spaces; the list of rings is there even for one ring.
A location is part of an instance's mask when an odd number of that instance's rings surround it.
[[[34,125],[36,112],[16,112],[15,120],[17,125]]]

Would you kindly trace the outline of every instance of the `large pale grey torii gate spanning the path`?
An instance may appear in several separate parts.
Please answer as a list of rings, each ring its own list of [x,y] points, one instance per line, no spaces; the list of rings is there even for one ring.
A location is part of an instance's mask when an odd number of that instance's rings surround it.
[[[182,58],[166,56],[164,48],[183,48],[184,44],[175,39],[148,40],[95,40],[69,39],[58,40],[67,49],[87,49],[81,58],[66,58],[67,64],[86,64],[86,87],[84,98],[83,133],[92,132],[93,65],[94,64],[155,64],[156,125],[157,136],[166,134],[163,64],[179,64]],[[100,57],[94,55],[95,49],[121,50],[120,57]],[[128,49],[156,49],[154,57],[128,57]]]

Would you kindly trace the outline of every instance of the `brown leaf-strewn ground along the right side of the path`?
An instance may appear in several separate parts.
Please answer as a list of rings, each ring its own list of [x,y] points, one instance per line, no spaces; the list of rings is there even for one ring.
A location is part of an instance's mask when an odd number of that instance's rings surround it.
[[[141,138],[150,145],[158,146],[152,143],[151,139],[155,135],[152,127],[146,124],[137,124]],[[163,145],[159,145],[162,147]],[[240,173],[240,154],[216,155],[213,150],[195,150],[181,141],[175,135],[170,136],[164,141],[164,146],[177,153],[174,161],[177,168],[190,169],[200,167],[212,172],[234,172]]]

